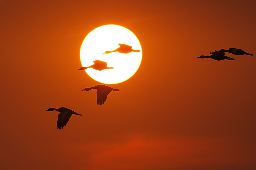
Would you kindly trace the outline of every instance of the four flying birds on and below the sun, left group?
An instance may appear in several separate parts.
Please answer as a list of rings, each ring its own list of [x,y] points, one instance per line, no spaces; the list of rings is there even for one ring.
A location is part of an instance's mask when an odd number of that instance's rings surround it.
[[[134,49],[132,49],[132,46],[129,46],[129,45],[126,45],[126,44],[118,44],[118,45],[120,46],[119,48],[116,48],[113,51],[106,51],[103,54],[109,54],[109,53],[112,53],[112,52],[119,52],[119,53],[123,53],[123,54],[131,53],[131,52],[140,52],[140,50],[134,50]],[[88,67],[82,67],[78,70],[85,70],[85,69],[88,69],[88,68],[93,68],[94,70],[98,70],[98,71],[102,71],[102,70],[105,70],[105,69],[113,69],[113,67],[107,67],[107,62],[104,62],[104,61],[95,60],[95,61],[93,61],[93,63],[94,64],[92,64]],[[84,88],[83,90],[89,91],[89,90],[92,90],[92,89],[97,89],[97,104],[99,106],[101,106],[105,103],[105,101],[107,99],[107,96],[111,91],[120,91],[119,89],[114,89],[114,88],[109,87],[107,85],[96,85],[94,87]],[[60,114],[58,115],[57,129],[64,128],[67,125],[67,123],[69,121],[69,118],[73,114],[82,116],[81,114],[78,114],[78,113],[74,112],[73,110],[70,110],[66,107],[60,107],[58,109],[49,108],[46,111],[53,111],[53,110],[56,110],[56,111],[60,112]]]

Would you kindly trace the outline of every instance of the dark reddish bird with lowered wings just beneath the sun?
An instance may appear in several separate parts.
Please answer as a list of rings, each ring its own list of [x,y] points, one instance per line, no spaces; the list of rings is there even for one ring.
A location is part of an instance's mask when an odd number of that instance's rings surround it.
[[[121,91],[119,89],[114,89],[114,88],[109,87],[107,85],[96,85],[94,87],[84,88],[83,90],[89,91],[89,90],[92,90],[92,89],[97,89],[97,104],[99,106],[103,105],[105,103],[105,101],[107,99],[107,96],[111,91]]]

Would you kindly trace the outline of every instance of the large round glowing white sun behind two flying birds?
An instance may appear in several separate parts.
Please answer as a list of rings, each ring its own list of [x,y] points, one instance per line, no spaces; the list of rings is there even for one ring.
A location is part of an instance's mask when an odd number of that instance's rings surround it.
[[[105,53],[121,46],[132,46],[135,52]],[[105,25],[95,28],[85,37],[80,50],[80,59],[83,67],[93,65],[95,60],[106,62],[107,67],[113,67],[113,69],[98,71],[87,68],[85,71],[98,82],[117,84],[131,78],[138,70],[142,59],[142,50],[139,40],[130,30],[123,26]]]

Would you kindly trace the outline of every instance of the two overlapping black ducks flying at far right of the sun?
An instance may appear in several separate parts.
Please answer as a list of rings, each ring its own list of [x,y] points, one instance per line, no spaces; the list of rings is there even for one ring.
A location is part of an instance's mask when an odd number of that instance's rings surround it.
[[[235,55],[252,55],[250,53],[246,53],[244,52],[243,50],[241,49],[238,49],[238,48],[229,48],[228,50],[225,50],[225,49],[221,49],[219,51],[214,51],[214,52],[210,52],[210,56],[205,56],[205,55],[201,55],[200,57],[197,57],[197,58],[212,58],[214,60],[235,60],[234,58],[230,58],[228,56],[225,55],[224,52],[228,52],[228,53],[232,53],[232,54],[235,54]]]

